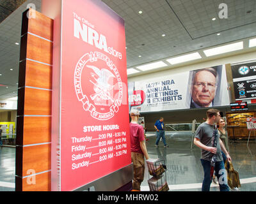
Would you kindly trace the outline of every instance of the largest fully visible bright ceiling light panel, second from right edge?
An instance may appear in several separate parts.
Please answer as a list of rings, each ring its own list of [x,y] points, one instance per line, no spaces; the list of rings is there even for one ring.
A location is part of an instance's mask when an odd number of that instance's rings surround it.
[[[243,49],[243,41],[238,43],[232,43],[229,45],[223,45],[220,47],[211,48],[209,50],[204,50],[204,54],[206,55],[206,57],[210,57],[212,55],[219,55],[226,52],[232,52],[232,51],[241,50],[241,49]]]

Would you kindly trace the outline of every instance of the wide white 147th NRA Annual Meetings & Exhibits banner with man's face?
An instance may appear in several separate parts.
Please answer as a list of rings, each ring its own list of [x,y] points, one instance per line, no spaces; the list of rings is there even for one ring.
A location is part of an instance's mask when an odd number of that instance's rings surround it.
[[[129,82],[129,106],[141,112],[229,105],[225,66]]]

